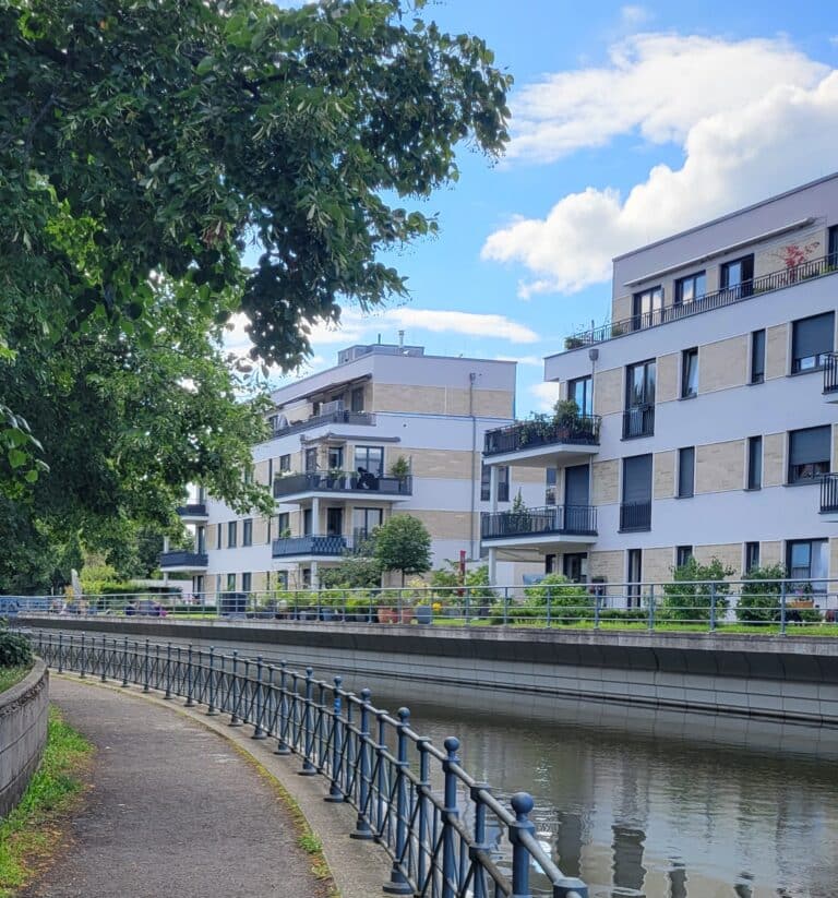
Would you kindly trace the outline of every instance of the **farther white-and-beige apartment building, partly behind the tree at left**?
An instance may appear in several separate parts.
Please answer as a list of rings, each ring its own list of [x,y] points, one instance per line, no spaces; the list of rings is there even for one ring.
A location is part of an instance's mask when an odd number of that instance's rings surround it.
[[[515,371],[514,362],[429,356],[421,346],[340,350],[335,367],[273,394],[273,436],[253,458],[275,514],[242,517],[192,496],[180,512],[194,551],[164,552],[164,572],[191,575],[202,594],[316,586],[324,567],[403,513],[428,527],[435,566],[460,552],[478,559],[489,507],[483,440],[514,420]],[[502,506],[507,491],[501,482]]]

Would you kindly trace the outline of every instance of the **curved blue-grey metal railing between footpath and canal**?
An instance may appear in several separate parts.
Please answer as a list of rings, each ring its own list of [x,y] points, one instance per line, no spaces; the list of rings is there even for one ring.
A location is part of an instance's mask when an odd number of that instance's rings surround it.
[[[536,839],[530,795],[517,792],[506,806],[460,766],[457,739],[438,749],[411,728],[407,708],[393,717],[372,705],[369,690],[356,695],[339,677],[328,683],[311,668],[302,674],[236,651],[41,630],[29,636],[59,673],[178,696],[187,707],[205,705],[207,715],[229,715],[231,726],[252,726],[254,739],[276,739],[277,754],[301,758],[301,774],[326,778],[326,801],[356,809],[350,835],[387,852],[390,894],[528,898],[538,866],[553,898],[588,896]],[[440,775],[442,792],[433,786]]]

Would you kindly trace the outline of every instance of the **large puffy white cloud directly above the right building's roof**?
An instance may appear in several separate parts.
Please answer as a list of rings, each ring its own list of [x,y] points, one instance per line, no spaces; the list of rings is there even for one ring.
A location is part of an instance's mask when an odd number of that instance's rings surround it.
[[[726,83],[738,76],[721,74]],[[589,187],[561,199],[544,218],[518,217],[489,237],[483,259],[524,264],[531,277],[519,284],[523,298],[574,292],[608,280],[614,255],[829,173],[838,144],[838,72],[812,86],[782,77],[737,108],[696,108],[680,168],[655,166],[626,195]],[[661,93],[666,106],[668,87]],[[694,104],[687,98],[685,105]],[[660,135],[668,127],[678,132],[677,119],[669,125],[661,119]]]

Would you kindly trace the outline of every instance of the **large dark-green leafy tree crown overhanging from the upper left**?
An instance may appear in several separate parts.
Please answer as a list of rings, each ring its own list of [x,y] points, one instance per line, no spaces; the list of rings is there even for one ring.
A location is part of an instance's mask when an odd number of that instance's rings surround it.
[[[396,203],[456,180],[458,143],[507,140],[511,79],[423,5],[0,0],[0,367],[58,347],[60,380],[68,339],[147,349],[163,303],[181,327],[243,312],[253,358],[289,370],[342,302],[405,295],[380,254],[438,223]],[[20,493],[49,430],[0,395]]]

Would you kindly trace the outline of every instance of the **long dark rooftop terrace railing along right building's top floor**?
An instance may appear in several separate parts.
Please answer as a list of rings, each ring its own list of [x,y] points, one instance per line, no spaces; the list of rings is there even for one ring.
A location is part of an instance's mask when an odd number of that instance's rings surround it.
[[[803,280],[811,280],[815,277],[838,272],[838,264],[835,255],[825,255],[821,259],[810,259],[800,265],[793,265],[781,271],[770,272],[761,275],[752,280],[744,280],[735,287],[725,287],[714,294],[705,294],[697,297],[692,302],[679,306],[667,306],[663,309],[654,309],[641,315],[632,315],[621,321],[612,321],[589,331],[580,331],[567,337],[564,348],[578,349],[582,346],[590,346],[594,343],[604,343],[604,340],[622,337],[634,331],[645,331],[647,327],[657,327],[659,324],[668,324],[671,321],[679,321],[682,318],[709,312],[714,309],[721,309],[725,306],[732,306],[745,299],[751,299],[759,294],[769,294],[775,290],[782,290]]]

